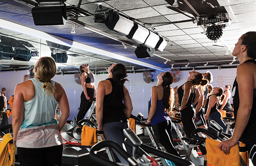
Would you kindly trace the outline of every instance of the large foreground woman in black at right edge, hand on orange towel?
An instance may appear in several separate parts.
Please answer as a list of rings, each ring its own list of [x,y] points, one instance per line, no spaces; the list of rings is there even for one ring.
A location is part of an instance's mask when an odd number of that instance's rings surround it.
[[[245,143],[249,156],[256,166],[256,32],[243,34],[235,44],[233,56],[238,57],[240,65],[236,70],[233,85],[234,117],[236,126],[233,136],[222,141],[219,148],[225,154],[237,144],[241,138]]]

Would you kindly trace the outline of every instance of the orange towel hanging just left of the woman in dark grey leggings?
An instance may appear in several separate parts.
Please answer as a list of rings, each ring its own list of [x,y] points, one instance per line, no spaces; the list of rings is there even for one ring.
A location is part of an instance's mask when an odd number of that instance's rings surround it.
[[[96,134],[96,128],[83,125],[81,134],[81,145],[89,146],[98,143],[98,134]]]

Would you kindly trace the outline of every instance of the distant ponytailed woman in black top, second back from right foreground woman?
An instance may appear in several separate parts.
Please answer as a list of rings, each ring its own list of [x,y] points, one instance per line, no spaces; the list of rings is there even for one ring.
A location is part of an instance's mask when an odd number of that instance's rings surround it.
[[[205,109],[207,111],[204,117],[206,120],[208,119],[208,121],[211,121],[211,120],[216,121],[216,123],[218,123],[223,128],[223,132],[226,132],[227,126],[221,119],[221,113],[217,109],[218,100],[219,100],[219,104],[222,104],[224,98],[225,98],[225,94],[223,94],[223,89],[221,87],[212,88],[212,94],[208,96],[208,99],[206,101]],[[231,132],[229,132],[229,134],[231,134]]]

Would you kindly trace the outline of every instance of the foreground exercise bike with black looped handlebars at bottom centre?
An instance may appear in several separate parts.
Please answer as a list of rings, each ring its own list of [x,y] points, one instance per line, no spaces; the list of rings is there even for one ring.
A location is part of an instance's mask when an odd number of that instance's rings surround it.
[[[183,160],[180,157],[165,153],[148,145],[144,145],[140,138],[133,132],[133,130],[127,128],[123,130],[126,138],[125,143],[132,148],[132,156],[129,155],[120,145],[111,140],[105,140],[94,145],[90,151],[90,158],[97,164],[104,166],[126,166],[121,163],[114,163],[106,160],[105,158],[97,155],[97,151],[105,146],[114,148],[125,160],[129,163],[129,166],[159,166],[160,164],[153,159],[148,153],[152,153],[166,160],[175,162],[178,166],[195,166],[193,163]]]

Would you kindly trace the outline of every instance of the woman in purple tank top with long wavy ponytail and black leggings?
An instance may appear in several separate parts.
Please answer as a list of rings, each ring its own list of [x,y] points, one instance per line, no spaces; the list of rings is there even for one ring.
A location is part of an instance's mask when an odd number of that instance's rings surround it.
[[[173,76],[170,72],[158,75],[158,84],[151,88],[150,110],[146,124],[153,126],[153,131],[168,153],[180,157],[173,145],[171,134],[172,122],[169,117],[174,104],[174,91],[170,87]]]

